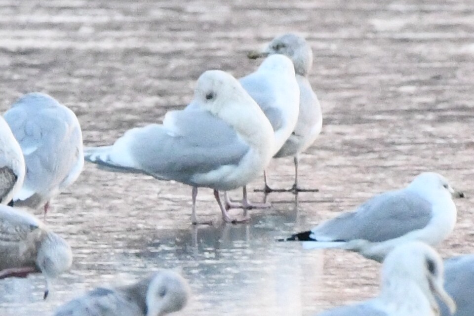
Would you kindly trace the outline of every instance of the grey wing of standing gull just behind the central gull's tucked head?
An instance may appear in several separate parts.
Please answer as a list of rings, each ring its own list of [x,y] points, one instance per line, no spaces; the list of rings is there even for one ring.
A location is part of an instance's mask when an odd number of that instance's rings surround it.
[[[262,109],[265,116],[272,124],[273,130],[277,131],[283,126],[283,118],[280,110],[272,105],[276,103],[275,93],[271,93],[273,86],[267,84],[266,78],[258,73],[253,73],[239,79],[242,87],[254,99],[258,106]]]

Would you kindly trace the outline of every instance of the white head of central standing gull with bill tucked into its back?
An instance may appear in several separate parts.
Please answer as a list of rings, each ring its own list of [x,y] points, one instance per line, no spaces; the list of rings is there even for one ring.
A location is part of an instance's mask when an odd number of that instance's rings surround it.
[[[188,107],[198,105],[218,115],[231,101],[255,103],[232,75],[220,70],[208,70],[197,79],[194,99]]]

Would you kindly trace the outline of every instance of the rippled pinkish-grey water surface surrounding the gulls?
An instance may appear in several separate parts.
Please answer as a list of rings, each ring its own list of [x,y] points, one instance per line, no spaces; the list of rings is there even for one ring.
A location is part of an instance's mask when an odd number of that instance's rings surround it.
[[[0,1],[0,110],[22,93],[48,92],[78,115],[85,145],[110,144],[183,107],[207,69],[249,73],[257,63],[245,52],[288,31],[311,42],[310,81],[324,115],[300,163],[301,185],[320,192],[297,204],[291,194],[271,195],[273,208],[250,211],[248,224],[222,224],[202,189],[198,216],[215,225],[194,227],[191,188],[86,164],[48,214],[73,247],[71,271],[46,301],[42,276],[2,280],[0,315],[52,315],[94,286],[163,267],[181,269],[191,284],[179,315],[309,316],[374,296],[379,264],[275,239],[425,170],[467,195],[456,200],[455,232],[438,250],[471,252],[473,14],[462,0]],[[290,187],[292,159],[273,161],[269,174]],[[258,178],[250,188],[262,186]]]

